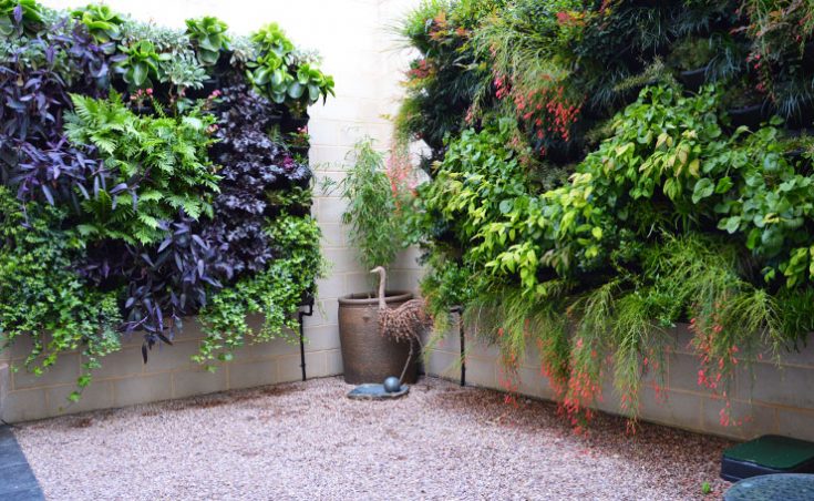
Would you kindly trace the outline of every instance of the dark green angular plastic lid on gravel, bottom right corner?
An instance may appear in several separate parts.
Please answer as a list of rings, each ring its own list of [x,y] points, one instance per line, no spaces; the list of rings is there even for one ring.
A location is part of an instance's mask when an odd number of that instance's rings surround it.
[[[795,470],[814,460],[814,443],[805,440],[765,434],[727,449],[723,457],[748,461],[773,470]]]

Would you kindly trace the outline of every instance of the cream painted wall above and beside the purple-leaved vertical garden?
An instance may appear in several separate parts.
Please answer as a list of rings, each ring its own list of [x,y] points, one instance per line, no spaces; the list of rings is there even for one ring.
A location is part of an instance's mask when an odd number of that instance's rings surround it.
[[[41,0],[53,8],[84,6],[91,0]],[[184,27],[187,18],[216,16],[235,33],[248,34],[276,21],[297,47],[316,49],[322,69],[334,76],[337,96],[309,109],[311,164],[318,178],[341,178],[348,151],[361,136],[374,137],[385,149],[398,109],[408,53],[399,49],[392,29],[418,0],[107,0],[114,10],[168,27]],[[320,311],[306,319],[306,335],[321,347],[339,347],[337,298],[364,290],[368,274],[356,263],[340,224],[343,205],[336,196],[318,193],[313,214],[323,232],[322,248],[331,263],[319,282]],[[416,253],[400,256],[391,270],[391,286],[415,287],[420,268]],[[341,371],[341,368],[340,368]]]

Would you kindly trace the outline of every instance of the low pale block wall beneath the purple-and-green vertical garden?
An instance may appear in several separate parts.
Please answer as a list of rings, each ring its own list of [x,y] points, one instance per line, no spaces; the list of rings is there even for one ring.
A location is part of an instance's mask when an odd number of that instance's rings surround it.
[[[259,318],[251,320],[260,323]],[[6,359],[0,360],[0,419],[28,421],[301,379],[295,333],[271,342],[247,345],[235,351],[231,361],[218,364],[214,372],[189,359],[197,352],[202,338],[199,325],[190,319],[173,346],[153,347],[144,364],[142,337],[134,334],[123,341],[122,350],[102,360],[102,368],[93,372],[93,382],[75,403],[70,402],[68,396],[76,389],[82,355],[65,352],[53,367],[37,377],[23,367],[30,342],[20,339],[4,352]],[[309,378],[342,374],[336,336],[315,333],[306,350],[306,369]]]

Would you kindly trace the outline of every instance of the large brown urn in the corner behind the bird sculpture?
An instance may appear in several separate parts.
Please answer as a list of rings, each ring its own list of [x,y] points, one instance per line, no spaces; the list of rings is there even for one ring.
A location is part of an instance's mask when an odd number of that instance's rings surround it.
[[[413,298],[411,293],[387,292],[388,308],[398,308]],[[410,355],[408,341],[396,342],[379,334],[379,299],[371,294],[351,294],[339,298],[339,341],[342,345],[344,380],[351,385],[382,382],[399,377]],[[419,375],[419,347],[404,375],[413,384]]]

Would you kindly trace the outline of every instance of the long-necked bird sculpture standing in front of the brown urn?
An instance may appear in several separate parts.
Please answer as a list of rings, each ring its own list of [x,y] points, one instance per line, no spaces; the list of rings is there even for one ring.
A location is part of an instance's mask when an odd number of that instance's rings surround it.
[[[426,313],[424,299],[410,299],[396,308],[388,308],[384,301],[388,273],[382,266],[377,266],[370,273],[379,274],[379,334],[396,341],[410,342],[410,355],[399,377],[401,384],[413,358],[414,344],[421,346],[421,335],[432,327],[432,317]]]

